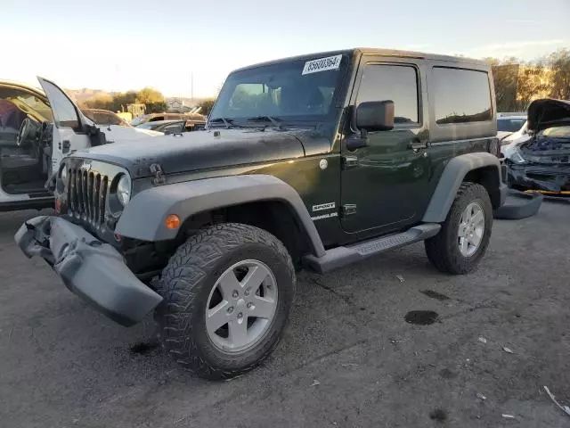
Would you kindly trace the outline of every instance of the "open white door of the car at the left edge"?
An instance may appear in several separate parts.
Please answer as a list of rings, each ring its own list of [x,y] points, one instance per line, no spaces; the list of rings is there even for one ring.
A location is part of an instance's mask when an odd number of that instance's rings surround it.
[[[44,88],[50,107],[53,112],[53,137],[51,154],[51,169],[56,171],[63,157],[70,152],[84,149],[91,145],[91,140],[85,132],[87,124],[92,124],[90,119],[79,110],[68,95],[50,80],[37,78]]]

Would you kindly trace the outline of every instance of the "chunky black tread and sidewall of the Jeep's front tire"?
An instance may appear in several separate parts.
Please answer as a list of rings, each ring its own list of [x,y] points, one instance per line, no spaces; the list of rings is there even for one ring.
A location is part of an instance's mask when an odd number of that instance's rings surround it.
[[[244,243],[262,243],[278,253],[294,278],[292,287],[295,292],[295,269],[285,246],[265,230],[240,223],[209,226],[191,235],[175,251],[159,280],[159,293],[164,297],[164,302],[156,319],[163,346],[178,364],[200,377],[228,379],[248,372],[267,358],[279,342],[279,337],[273,338],[273,346],[249,366],[239,370],[220,370],[202,357],[199,346],[193,340],[189,320],[191,313],[196,310],[194,302],[199,292],[196,285],[208,276],[220,257]]]

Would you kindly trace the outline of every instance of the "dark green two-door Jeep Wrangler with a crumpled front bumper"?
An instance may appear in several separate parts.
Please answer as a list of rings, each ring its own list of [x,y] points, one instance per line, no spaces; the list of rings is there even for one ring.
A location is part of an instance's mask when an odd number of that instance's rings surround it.
[[[56,126],[84,123],[66,100]],[[69,155],[58,215],[15,239],[119,324],[154,310],[183,366],[231,377],[275,347],[297,268],[422,240],[436,268],[476,268],[506,194],[496,134],[483,62],[371,49],[267,62],[230,74],[206,130]]]

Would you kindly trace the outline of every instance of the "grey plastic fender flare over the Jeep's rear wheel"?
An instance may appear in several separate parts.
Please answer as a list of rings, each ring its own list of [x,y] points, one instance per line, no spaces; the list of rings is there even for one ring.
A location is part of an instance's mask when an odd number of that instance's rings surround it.
[[[449,161],[439,178],[436,191],[429,201],[428,209],[424,213],[422,221],[426,223],[444,222],[452,207],[455,195],[468,172],[485,167],[496,167],[498,183],[501,185],[501,162],[491,153],[466,153]]]

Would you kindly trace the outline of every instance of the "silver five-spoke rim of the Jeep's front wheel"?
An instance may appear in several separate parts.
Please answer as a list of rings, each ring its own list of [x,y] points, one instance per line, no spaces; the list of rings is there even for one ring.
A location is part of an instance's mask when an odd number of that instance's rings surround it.
[[[271,269],[258,260],[235,263],[208,296],[208,337],[224,352],[249,350],[267,333],[276,309],[277,281]]]

